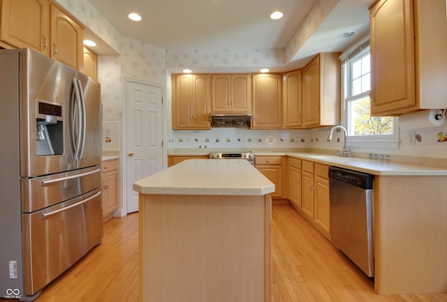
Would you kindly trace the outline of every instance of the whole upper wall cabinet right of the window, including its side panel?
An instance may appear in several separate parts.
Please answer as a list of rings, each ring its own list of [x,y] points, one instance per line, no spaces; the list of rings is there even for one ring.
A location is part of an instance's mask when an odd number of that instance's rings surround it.
[[[371,113],[447,108],[445,0],[381,0],[370,8]]]

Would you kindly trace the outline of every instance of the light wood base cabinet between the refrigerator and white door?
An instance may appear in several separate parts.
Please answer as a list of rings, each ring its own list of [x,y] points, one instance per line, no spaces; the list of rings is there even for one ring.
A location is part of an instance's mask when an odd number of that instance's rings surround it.
[[[118,209],[119,176],[118,160],[105,160],[101,163],[103,174],[103,220],[112,218]]]

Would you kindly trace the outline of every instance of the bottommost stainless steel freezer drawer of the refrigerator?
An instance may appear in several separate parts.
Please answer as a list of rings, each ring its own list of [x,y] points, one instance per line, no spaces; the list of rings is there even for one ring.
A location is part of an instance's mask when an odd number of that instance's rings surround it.
[[[33,295],[101,242],[101,190],[22,214],[24,294]]]

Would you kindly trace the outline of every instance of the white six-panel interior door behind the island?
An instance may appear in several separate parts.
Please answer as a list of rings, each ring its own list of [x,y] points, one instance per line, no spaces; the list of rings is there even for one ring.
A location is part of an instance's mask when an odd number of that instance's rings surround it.
[[[163,167],[162,97],[161,87],[126,82],[127,213],[138,211],[138,192],[132,184]]]

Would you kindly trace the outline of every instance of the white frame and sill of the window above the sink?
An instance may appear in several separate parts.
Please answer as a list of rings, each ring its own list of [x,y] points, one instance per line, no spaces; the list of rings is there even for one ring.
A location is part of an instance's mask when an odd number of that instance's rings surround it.
[[[349,102],[352,100],[359,100],[365,96],[369,96],[370,91],[364,91],[356,96],[348,96],[349,91],[351,91],[352,83],[352,63],[357,61],[360,56],[365,56],[369,52],[369,38],[362,40],[351,48],[348,52],[344,52],[340,56],[341,63],[341,81],[342,81],[342,110],[341,118],[342,125],[346,129],[349,129]],[[372,70],[371,70],[372,72]],[[365,148],[389,148],[398,149],[399,148],[399,126],[397,124],[397,119],[393,118],[393,134],[392,135],[347,135],[346,141],[349,142],[351,147],[365,147]]]

